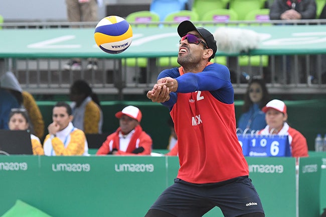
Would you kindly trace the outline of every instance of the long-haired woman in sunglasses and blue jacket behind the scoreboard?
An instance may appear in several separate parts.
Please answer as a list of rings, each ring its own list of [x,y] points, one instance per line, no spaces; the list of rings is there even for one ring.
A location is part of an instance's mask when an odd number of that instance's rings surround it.
[[[252,79],[249,82],[242,106],[243,114],[238,121],[238,128],[260,130],[266,126],[265,113],[261,109],[269,101],[269,94],[262,79]]]

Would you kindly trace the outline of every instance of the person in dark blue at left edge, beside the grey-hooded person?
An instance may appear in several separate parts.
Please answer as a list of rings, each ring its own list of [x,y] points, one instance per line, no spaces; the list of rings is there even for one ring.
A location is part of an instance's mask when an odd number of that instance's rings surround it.
[[[0,129],[9,129],[10,111],[17,107],[19,107],[17,99],[6,89],[0,88]]]

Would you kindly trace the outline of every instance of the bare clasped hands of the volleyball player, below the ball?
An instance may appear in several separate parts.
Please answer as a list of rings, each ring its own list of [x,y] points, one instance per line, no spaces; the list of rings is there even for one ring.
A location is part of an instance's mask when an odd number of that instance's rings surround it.
[[[157,80],[153,89],[147,92],[147,98],[152,102],[166,102],[170,99],[170,93],[176,92],[178,89],[178,82],[171,77],[165,77]]]

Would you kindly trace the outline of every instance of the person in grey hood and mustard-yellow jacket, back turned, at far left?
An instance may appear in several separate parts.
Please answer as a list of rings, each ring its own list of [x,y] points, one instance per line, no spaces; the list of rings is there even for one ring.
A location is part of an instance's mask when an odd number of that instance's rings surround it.
[[[23,91],[16,76],[12,72],[6,72],[0,78],[1,86],[7,89],[17,99],[19,106],[27,110],[30,129],[40,139],[44,136],[44,120],[39,106],[34,97],[27,91]]]

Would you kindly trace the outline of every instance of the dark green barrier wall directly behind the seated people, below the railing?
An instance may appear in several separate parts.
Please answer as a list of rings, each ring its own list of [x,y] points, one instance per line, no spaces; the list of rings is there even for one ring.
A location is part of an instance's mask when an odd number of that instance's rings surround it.
[[[56,102],[37,101],[44,121],[45,132],[47,126],[52,122],[52,108]],[[298,100],[285,101],[287,105],[288,123],[299,130],[307,139],[309,150],[314,150],[314,138],[317,133],[326,133],[326,100]],[[169,109],[159,103],[140,101],[104,101],[101,102],[103,110],[103,132],[114,132],[119,125],[119,121],[114,114],[127,105],[137,106],[143,118],[141,126],[153,139],[154,149],[165,149],[168,145],[170,128],[167,120]],[[239,119],[242,111],[243,101],[235,101],[236,119]]]

